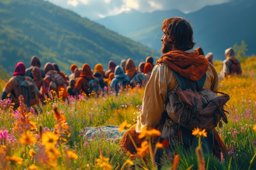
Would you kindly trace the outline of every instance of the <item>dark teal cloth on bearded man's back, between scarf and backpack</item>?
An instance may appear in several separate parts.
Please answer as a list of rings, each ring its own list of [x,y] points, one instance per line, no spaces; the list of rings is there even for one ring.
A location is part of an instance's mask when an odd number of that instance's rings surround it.
[[[193,81],[193,80],[189,80],[186,79],[185,77],[182,77],[182,75],[180,75],[179,73],[173,71],[173,74],[175,75],[177,82],[178,82],[178,86],[182,89],[185,90],[186,88],[191,88],[192,90],[196,90],[196,91],[200,91],[202,90],[204,83],[206,81],[206,73],[204,74],[204,76],[199,79],[198,81]]]

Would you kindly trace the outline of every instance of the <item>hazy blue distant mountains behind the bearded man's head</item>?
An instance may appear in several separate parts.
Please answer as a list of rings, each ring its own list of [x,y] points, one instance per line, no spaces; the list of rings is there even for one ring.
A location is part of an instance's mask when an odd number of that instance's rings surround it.
[[[159,2],[160,3],[160,2]],[[227,3],[206,6],[192,13],[179,10],[124,12],[95,20],[121,35],[160,51],[161,26],[166,18],[184,17],[193,26],[195,48],[200,46],[204,54],[213,53],[213,60],[225,60],[225,49],[238,46],[242,40],[247,44],[246,55],[256,54],[256,1],[232,0]],[[122,24],[120,24],[122,23]]]

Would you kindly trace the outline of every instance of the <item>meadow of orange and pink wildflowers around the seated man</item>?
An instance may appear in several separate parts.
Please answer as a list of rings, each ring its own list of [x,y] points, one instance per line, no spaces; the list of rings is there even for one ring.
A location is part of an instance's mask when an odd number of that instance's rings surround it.
[[[222,62],[214,64],[220,72]],[[188,154],[178,146],[173,164],[166,160],[168,166],[162,169],[256,170],[256,57],[248,57],[242,68],[242,76],[220,80],[219,91],[230,96],[225,106],[229,122],[216,129],[228,154],[216,159],[200,147]],[[0,80],[1,91],[6,82]],[[28,110],[22,104],[13,110],[11,101],[0,100],[0,169],[156,170],[150,142],[128,156],[119,147],[121,135],[102,127],[120,125],[121,131],[135,124],[143,95],[144,88],[139,87],[127,88],[118,96],[106,91],[98,98],[80,95],[66,101],[56,99],[53,93],[46,105]],[[86,135],[89,127],[96,130]],[[150,141],[154,132],[146,130],[144,136]],[[193,133],[199,138],[207,135],[197,130]]]

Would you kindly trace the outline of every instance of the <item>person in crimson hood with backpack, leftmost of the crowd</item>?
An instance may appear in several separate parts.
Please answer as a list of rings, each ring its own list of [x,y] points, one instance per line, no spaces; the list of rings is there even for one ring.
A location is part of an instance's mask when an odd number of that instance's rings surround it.
[[[14,108],[18,108],[18,106],[20,105],[18,97],[22,94],[20,86],[19,86],[19,81],[21,79],[25,79],[28,82],[31,82],[31,84],[33,84],[33,86],[34,86],[34,89],[36,90],[36,93],[39,94],[38,88],[34,84],[31,77],[25,75],[26,74],[25,69],[26,69],[25,64],[23,62],[18,62],[14,69],[13,77],[11,77],[9,79],[9,81],[7,82],[7,84],[5,84],[5,86],[2,90],[1,99],[2,100],[6,99],[7,95],[10,93],[10,99],[11,99],[11,102],[14,103]],[[24,99],[26,97],[27,96],[23,96]],[[25,104],[27,104],[27,103],[25,103]]]

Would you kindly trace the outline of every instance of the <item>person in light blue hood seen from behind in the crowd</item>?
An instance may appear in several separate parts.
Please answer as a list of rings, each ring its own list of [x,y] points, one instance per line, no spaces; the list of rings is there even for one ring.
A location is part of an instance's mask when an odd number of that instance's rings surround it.
[[[117,94],[126,88],[130,84],[130,79],[125,75],[123,68],[121,66],[116,66],[114,72],[114,78],[110,83],[110,88],[114,90]]]

